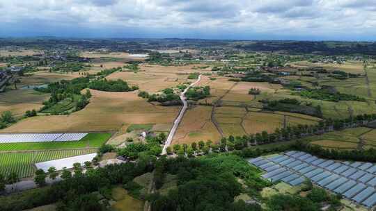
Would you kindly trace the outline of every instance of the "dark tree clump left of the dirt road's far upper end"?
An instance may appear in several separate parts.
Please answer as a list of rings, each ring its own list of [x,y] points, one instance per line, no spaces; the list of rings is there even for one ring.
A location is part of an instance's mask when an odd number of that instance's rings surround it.
[[[149,94],[148,92],[141,91],[139,96],[143,99],[148,99],[149,102],[159,102],[162,105],[181,105],[180,97],[173,92],[173,89],[166,88],[162,94]]]

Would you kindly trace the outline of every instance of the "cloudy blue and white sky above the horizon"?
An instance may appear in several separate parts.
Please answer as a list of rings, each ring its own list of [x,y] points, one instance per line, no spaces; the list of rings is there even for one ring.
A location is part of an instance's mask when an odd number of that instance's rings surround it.
[[[376,40],[376,0],[0,0],[0,37]]]

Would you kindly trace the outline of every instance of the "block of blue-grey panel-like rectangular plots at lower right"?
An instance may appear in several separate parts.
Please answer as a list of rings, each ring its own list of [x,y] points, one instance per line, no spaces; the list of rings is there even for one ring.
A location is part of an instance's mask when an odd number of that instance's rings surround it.
[[[281,180],[296,186],[308,179],[359,205],[367,208],[376,205],[376,165],[373,163],[327,160],[299,151],[253,158],[249,162],[266,171],[262,177],[271,182]]]

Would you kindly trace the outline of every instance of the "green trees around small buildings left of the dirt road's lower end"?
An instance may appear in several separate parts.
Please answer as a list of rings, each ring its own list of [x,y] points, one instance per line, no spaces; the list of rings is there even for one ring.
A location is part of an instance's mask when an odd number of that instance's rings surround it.
[[[159,156],[162,153],[162,146],[166,141],[166,134],[159,133],[156,137],[146,137],[146,144],[131,143],[125,148],[118,149],[118,155],[126,159],[136,160],[140,154]]]

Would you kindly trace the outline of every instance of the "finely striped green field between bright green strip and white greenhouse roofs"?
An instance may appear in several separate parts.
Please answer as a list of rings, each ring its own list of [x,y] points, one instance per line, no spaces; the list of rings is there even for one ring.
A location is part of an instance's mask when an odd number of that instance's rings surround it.
[[[96,149],[75,149],[59,151],[36,151],[24,153],[0,153],[0,174],[17,172],[20,178],[33,176],[36,162],[68,158],[77,155],[95,153]]]

